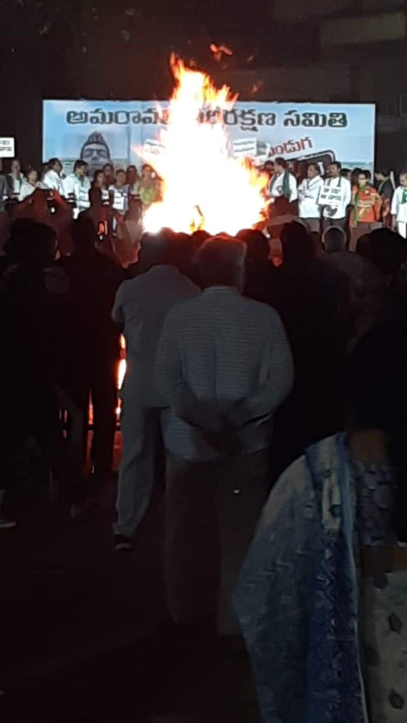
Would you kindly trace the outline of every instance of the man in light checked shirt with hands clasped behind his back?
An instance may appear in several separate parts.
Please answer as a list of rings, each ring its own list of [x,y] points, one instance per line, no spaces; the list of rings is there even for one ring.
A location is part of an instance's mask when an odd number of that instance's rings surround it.
[[[280,317],[241,296],[245,254],[223,236],[200,247],[205,291],[168,312],[155,366],[170,407],[168,611],[178,625],[215,626],[218,617],[223,635],[239,633],[231,591],[268,494],[273,414],[294,385]]]

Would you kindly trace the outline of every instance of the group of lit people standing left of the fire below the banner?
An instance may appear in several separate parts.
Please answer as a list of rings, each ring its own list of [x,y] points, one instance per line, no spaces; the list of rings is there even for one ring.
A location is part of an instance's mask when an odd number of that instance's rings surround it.
[[[23,174],[14,158],[9,173],[0,175],[0,213],[53,226],[64,256],[73,249],[70,222],[87,213],[98,229],[99,247],[124,266],[134,261],[143,210],[160,195],[161,180],[147,163],[138,171],[136,166],[115,170],[109,162],[90,179],[82,159],[74,162],[72,173],[64,174],[59,158],[51,158],[40,173],[29,166]]]

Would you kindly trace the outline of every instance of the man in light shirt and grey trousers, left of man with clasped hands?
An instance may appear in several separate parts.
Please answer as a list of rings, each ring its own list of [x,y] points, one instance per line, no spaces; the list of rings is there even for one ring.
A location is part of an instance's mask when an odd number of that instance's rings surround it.
[[[200,294],[200,289],[172,264],[174,252],[171,239],[163,233],[143,245],[142,262],[151,268],[124,281],[113,306],[112,317],[123,327],[127,348],[121,390],[123,453],[114,525],[117,551],[132,549],[132,537],[153,492],[160,416],[166,406],[154,373],[164,318],[174,304]]]

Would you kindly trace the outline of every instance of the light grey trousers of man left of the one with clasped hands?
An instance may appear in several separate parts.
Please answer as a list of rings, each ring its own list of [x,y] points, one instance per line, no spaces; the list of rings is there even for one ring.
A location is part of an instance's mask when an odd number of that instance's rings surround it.
[[[160,443],[160,416],[160,408],[123,401],[123,451],[116,500],[117,521],[113,525],[116,534],[132,537],[150,505]]]

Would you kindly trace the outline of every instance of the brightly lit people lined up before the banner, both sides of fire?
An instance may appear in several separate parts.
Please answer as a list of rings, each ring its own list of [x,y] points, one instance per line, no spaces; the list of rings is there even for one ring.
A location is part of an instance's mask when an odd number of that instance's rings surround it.
[[[266,161],[262,171],[270,179],[266,194],[269,220],[293,215],[311,233],[340,226],[349,236],[352,251],[360,236],[381,226],[397,229],[403,238],[407,237],[405,173],[400,174],[396,187],[390,171],[378,170],[372,179],[368,169],[342,168],[339,161],[332,161],[325,168],[317,161],[275,158]],[[31,167],[23,174],[20,161],[15,158],[9,174],[0,176],[0,210],[9,205],[13,217],[27,215],[27,208],[35,204],[35,191],[47,193],[48,210],[53,213],[64,206],[77,218],[92,208],[95,221],[102,228],[106,226],[101,232],[104,236],[115,237],[119,228],[122,239],[124,228],[120,227],[129,222],[126,230],[134,245],[142,233],[143,210],[160,200],[162,181],[147,163],[139,171],[134,165],[115,170],[109,162],[93,171],[90,179],[87,163],[82,159],[75,161],[72,173],[65,175],[59,158],[44,163],[40,174]],[[115,241],[110,250],[116,252]],[[120,248],[117,253],[122,260]]]

